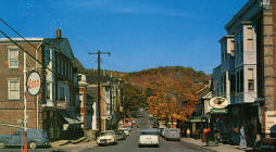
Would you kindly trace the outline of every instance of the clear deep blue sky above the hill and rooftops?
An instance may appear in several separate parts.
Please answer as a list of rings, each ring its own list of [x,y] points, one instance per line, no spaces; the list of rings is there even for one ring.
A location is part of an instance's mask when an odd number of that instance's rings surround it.
[[[248,0],[1,0],[0,16],[25,38],[61,28],[86,68],[137,72],[185,66],[212,74],[224,26]],[[18,37],[0,23],[10,37]],[[0,35],[2,38],[3,36]]]

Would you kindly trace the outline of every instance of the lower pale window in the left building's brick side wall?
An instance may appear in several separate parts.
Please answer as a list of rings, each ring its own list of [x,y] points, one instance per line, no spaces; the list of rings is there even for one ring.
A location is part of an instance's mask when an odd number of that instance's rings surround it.
[[[9,100],[20,100],[20,80],[8,80],[8,98]]]

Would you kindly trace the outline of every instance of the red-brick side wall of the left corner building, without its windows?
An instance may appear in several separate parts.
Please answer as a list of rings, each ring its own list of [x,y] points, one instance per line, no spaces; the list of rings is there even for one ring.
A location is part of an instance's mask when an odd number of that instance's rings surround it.
[[[27,43],[20,43],[25,50],[27,50],[33,56],[36,56],[35,49]],[[35,47],[38,47],[39,43],[34,43]],[[0,43],[0,123],[17,125],[20,126],[17,119],[24,118],[24,52],[18,50],[18,68],[9,68],[8,63],[8,47],[13,46],[12,43],[1,42]],[[38,58],[41,61],[41,54],[38,52]],[[26,58],[27,69],[32,69],[36,67],[36,62],[32,60],[29,56]],[[8,99],[8,78],[18,78],[20,79],[20,100],[9,100]],[[36,102],[35,97],[32,97],[27,93],[27,115],[28,122],[27,127],[36,128]],[[41,100],[41,96],[39,94],[39,100]],[[39,127],[42,128],[41,124],[41,104],[39,104]],[[17,128],[0,126],[0,134],[10,134],[11,131]]]

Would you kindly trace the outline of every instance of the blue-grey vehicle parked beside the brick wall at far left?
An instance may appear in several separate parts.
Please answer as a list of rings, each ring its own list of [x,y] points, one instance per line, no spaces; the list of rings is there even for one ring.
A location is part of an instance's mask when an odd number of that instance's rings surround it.
[[[15,130],[12,135],[0,135],[0,148],[23,145],[24,137],[24,129]],[[27,129],[27,143],[30,149],[51,145],[47,132],[41,129]]]

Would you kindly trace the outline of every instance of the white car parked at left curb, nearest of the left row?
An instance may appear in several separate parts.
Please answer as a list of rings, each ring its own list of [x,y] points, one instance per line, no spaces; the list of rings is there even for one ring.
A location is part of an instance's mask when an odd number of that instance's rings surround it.
[[[98,145],[116,144],[116,135],[113,130],[102,131],[97,138]]]

